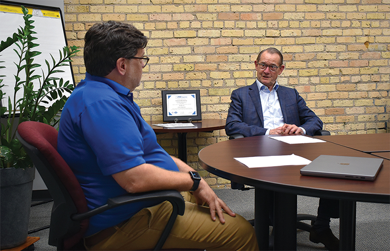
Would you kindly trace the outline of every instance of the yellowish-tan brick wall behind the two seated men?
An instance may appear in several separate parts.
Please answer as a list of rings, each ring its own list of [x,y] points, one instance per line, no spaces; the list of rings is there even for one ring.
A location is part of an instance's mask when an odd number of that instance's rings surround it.
[[[203,118],[225,119],[230,94],[254,82],[260,50],[276,47],[281,85],[297,89],[331,134],[385,133],[390,108],[390,0],[64,0],[69,45],[83,47],[98,21],[130,22],[148,38],[135,99],[146,120],[162,119],[161,90],[200,89]],[[84,77],[82,50],[74,58]],[[175,134],[157,135],[177,154]],[[224,130],[187,135],[188,163],[227,140]]]

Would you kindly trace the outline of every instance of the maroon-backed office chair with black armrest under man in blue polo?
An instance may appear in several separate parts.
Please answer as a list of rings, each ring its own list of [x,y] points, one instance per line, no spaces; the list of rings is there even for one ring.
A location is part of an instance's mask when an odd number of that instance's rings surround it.
[[[184,214],[184,199],[177,191],[128,193],[108,199],[105,205],[88,210],[87,201],[76,176],[57,152],[58,131],[50,125],[25,121],[18,126],[17,137],[42,176],[54,203],[50,221],[49,245],[57,250],[85,249],[82,238],[89,218],[128,203],[145,200],[169,201],[172,214],[154,250],[160,250],[175,223]]]

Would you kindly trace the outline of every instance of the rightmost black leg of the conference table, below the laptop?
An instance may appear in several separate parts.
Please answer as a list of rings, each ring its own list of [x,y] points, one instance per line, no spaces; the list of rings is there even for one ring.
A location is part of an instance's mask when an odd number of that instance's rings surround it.
[[[340,250],[355,250],[356,201],[340,200]]]

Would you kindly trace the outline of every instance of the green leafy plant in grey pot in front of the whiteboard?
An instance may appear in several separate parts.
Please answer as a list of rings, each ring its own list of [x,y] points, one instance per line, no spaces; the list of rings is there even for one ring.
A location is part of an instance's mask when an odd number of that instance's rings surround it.
[[[67,100],[65,94],[71,93],[75,88],[73,83],[64,82],[62,78],[54,75],[64,72],[59,68],[69,66],[69,62],[72,61],[71,57],[79,51],[78,48],[64,46],[62,51],[59,50],[58,61],[50,54],[52,64],[45,60],[47,66],[47,75],[45,76],[43,70],[40,69],[41,65],[34,63],[34,58],[41,54],[41,52],[33,50],[39,46],[39,44],[34,43],[34,40],[37,39],[34,37],[34,34],[37,33],[33,31],[35,27],[32,25],[34,20],[31,20],[32,15],[28,14],[28,10],[24,6],[21,8],[24,28],[19,27],[18,32],[14,33],[12,37],[0,42],[0,53],[16,44],[17,49],[14,51],[18,56],[18,61],[14,62],[17,66],[17,73],[14,75],[15,86],[13,93],[7,94],[8,100],[3,100],[6,93],[2,91],[5,86],[2,81],[6,76],[0,76],[0,100],[7,104],[0,110],[1,117],[5,120],[1,124],[0,168],[32,167],[33,164],[16,138],[16,130],[13,128],[27,120],[56,125],[59,122],[59,111]],[[0,61],[0,63],[4,63],[4,61]],[[0,68],[5,67],[0,65]],[[41,70],[41,75],[35,73],[38,69]],[[21,74],[23,72],[25,76]],[[21,77],[22,75],[23,77]],[[39,83],[38,90],[34,90],[33,80]],[[18,92],[22,92],[23,96],[17,100]],[[11,100],[11,96],[13,100]],[[48,105],[49,102],[51,102],[50,105]]]

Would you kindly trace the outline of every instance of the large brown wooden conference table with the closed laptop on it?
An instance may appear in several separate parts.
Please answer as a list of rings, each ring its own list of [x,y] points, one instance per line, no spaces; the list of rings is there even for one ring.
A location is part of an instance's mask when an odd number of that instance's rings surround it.
[[[390,203],[390,161],[374,181],[304,176],[303,167],[248,168],[234,157],[296,154],[313,160],[321,154],[372,157],[331,142],[287,144],[264,136],[218,142],[199,152],[201,166],[212,174],[255,187],[254,226],[260,250],[268,250],[270,196],[274,198],[274,249],[296,250],[297,194],[340,200],[340,247],[355,248],[356,201]]]

